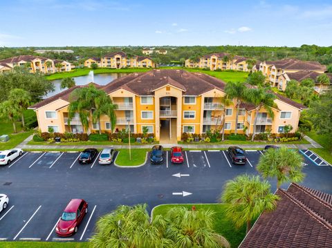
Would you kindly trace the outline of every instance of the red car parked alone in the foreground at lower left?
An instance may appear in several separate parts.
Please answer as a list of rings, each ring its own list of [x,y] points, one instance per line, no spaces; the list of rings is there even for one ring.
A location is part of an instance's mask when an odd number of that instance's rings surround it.
[[[72,199],[55,227],[58,236],[71,236],[77,232],[84,216],[88,212],[88,203],[83,199]]]

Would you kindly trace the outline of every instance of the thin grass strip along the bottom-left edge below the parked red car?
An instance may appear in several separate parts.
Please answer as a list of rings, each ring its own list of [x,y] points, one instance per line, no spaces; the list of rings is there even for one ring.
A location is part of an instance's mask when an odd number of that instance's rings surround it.
[[[89,242],[23,242],[12,241],[0,243],[1,248],[86,248]]]

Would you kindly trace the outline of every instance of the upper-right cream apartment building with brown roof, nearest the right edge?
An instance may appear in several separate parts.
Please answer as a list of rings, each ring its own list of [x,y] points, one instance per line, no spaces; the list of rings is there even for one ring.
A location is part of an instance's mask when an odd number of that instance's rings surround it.
[[[298,59],[282,59],[276,61],[263,61],[259,64],[259,70],[268,77],[270,84],[281,90],[286,89],[286,81],[282,75],[306,71],[308,73],[324,73],[326,66],[317,61],[301,61]],[[279,86],[281,84],[281,86]]]

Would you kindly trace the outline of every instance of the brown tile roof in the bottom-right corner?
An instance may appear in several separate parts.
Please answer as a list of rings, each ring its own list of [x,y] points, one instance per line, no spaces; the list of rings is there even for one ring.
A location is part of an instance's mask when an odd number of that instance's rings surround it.
[[[259,216],[240,248],[332,247],[332,195],[293,183],[276,195],[276,209]]]

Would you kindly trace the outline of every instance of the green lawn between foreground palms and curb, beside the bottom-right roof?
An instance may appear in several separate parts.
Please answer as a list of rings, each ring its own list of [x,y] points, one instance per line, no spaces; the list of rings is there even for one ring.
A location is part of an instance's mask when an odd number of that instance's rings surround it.
[[[183,206],[191,209],[193,204],[165,204],[160,205],[154,209],[153,216],[163,215],[167,213],[172,207]],[[225,204],[194,204],[196,209],[210,209],[215,212],[214,216],[214,231],[224,236],[232,247],[238,247],[246,236],[246,227],[240,229],[234,227],[234,224],[225,218]]]

